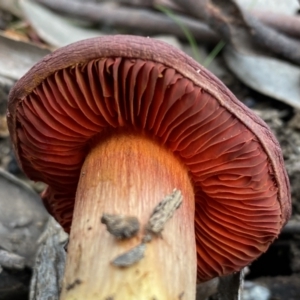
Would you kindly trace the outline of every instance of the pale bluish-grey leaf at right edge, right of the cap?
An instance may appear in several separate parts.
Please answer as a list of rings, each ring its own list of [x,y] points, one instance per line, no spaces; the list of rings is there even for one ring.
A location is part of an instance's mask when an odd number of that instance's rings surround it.
[[[231,71],[252,89],[300,109],[300,67],[263,55],[244,54],[226,47]]]

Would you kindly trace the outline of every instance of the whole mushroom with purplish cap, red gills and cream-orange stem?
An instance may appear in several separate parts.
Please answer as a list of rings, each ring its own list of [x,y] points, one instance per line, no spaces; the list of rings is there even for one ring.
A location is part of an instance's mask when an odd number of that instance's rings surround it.
[[[289,182],[267,125],[214,75],[150,38],[106,36],[46,56],[9,96],[19,164],[70,233],[61,299],[194,299],[199,281],[249,265],[290,216]],[[116,255],[104,213],[138,218],[180,190],[144,258]],[[72,225],[71,225],[72,223]]]

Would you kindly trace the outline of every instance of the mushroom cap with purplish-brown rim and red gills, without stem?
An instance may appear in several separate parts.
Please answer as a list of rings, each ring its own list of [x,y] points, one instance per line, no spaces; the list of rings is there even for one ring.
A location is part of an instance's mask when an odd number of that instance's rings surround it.
[[[17,159],[49,185],[45,205],[66,230],[92,140],[117,128],[155,138],[187,166],[201,280],[248,265],[290,216],[289,181],[268,126],[165,43],[133,36],[74,43],[35,65],[9,98]]]

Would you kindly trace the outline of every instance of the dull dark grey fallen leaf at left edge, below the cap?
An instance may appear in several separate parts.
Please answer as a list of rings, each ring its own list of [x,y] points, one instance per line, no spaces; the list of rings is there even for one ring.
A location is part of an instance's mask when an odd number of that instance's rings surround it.
[[[40,197],[13,175],[0,169],[0,247],[32,266],[37,240],[49,218]]]

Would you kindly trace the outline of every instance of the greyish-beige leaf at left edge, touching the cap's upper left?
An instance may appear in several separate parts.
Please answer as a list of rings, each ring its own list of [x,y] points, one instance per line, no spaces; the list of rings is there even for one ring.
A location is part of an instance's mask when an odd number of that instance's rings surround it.
[[[0,32],[0,75],[18,80],[50,50],[6,37]]]

